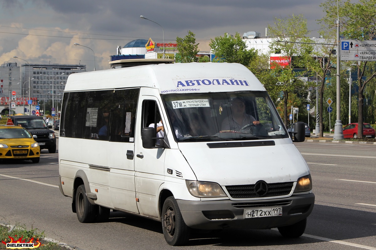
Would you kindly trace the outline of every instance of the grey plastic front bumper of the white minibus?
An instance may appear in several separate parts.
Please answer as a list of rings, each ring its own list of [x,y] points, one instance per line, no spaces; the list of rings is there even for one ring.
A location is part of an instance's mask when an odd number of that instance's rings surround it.
[[[196,229],[270,229],[288,226],[308,217],[314,202],[313,193],[262,201],[177,200],[185,224]],[[282,207],[282,216],[244,218],[244,209],[262,207]]]

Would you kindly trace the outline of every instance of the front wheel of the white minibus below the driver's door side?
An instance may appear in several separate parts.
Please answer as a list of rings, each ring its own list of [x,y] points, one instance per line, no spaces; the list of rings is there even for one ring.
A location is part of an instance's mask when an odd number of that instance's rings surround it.
[[[168,197],[162,208],[162,230],[170,246],[182,246],[190,237],[190,228],[185,225],[180,209],[173,196]]]

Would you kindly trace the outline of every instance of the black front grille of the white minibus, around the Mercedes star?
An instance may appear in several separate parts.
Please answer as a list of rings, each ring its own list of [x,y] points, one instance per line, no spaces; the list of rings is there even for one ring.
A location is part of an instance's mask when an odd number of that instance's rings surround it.
[[[283,182],[283,183],[268,183],[268,192],[262,197],[275,197],[284,196],[291,193],[293,188],[293,182]],[[257,195],[255,192],[255,185],[237,185],[237,186],[226,186],[227,192],[229,192],[232,198],[245,199],[245,198],[259,198],[261,196]]]

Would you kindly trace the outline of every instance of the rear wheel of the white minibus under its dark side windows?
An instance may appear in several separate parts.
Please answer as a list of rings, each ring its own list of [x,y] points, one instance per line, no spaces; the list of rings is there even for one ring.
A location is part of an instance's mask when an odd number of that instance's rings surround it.
[[[76,191],[76,214],[79,222],[90,223],[96,219],[98,206],[92,205],[86,196],[85,185],[80,185]]]

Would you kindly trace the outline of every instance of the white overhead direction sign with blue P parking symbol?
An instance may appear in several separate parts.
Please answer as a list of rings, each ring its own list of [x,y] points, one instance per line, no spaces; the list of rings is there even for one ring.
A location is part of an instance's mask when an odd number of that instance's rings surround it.
[[[376,61],[376,40],[341,40],[341,60]]]

